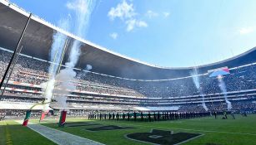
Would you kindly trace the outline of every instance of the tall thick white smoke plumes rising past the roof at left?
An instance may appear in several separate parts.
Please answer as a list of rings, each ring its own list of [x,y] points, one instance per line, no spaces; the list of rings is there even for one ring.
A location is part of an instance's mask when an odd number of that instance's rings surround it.
[[[69,18],[72,15],[68,15],[69,17],[66,20],[62,20],[60,22],[60,26],[66,31],[72,31],[75,35],[84,37],[87,34],[89,20],[94,8],[94,1],[93,0],[74,0],[67,2],[69,10],[74,13],[74,23],[69,21]],[[69,30],[70,27],[73,27],[73,30]],[[62,63],[62,52],[65,46],[65,41],[67,40],[67,36],[64,36],[62,33],[57,32],[53,36],[53,45],[51,50],[51,61],[55,60],[55,64]],[[81,43],[77,40],[73,41],[71,46],[69,55],[68,55],[68,62],[65,63],[68,67],[64,70],[60,70],[59,74],[58,65],[50,66],[49,73],[52,75],[50,80],[48,81],[48,87],[45,87],[45,96],[48,98],[49,96],[52,97],[53,94],[58,94],[54,96],[54,99],[57,100],[58,104],[61,108],[66,109],[66,100],[69,94],[69,91],[73,91],[76,89],[73,83],[70,83],[74,77],[76,76],[76,72],[73,70],[73,67],[78,63],[78,59],[80,56],[80,46]],[[55,88],[56,87],[56,88]],[[48,89],[49,88],[49,89]],[[55,89],[54,89],[55,88]]]

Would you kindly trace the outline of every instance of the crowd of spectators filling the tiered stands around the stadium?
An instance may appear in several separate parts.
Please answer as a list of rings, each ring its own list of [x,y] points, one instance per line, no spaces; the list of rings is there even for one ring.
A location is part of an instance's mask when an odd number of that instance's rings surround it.
[[[8,62],[12,56],[11,52],[0,50],[0,77],[3,77],[3,73],[7,68]],[[48,81],[48,68],[49,63],[43,60],[37,60],[29,56],[19,56],[18,63],[14,68],[13,74],[10,80],[41,85]],[[168,98],[168,97],[180,97],[188,95],[199,94],[198,89],[193,84],[193,78],[185,78],[178,80],[167,81],[136,81],[136,80],[123,80],[119,78],[113,78],[106,75],[98,75],[91,72],[84,72],[82,70],[76,70],[77,76],[73,80],[74,85],[78,90],[95,92],[98,94],[114,94],[114,95],[126,95],[133,97],[149,97],[149,98]],[[256,65],[248,65],[238,69],[230,70],[230,75],[223,76],[223,82],[227,86],[227,91],[241,91],[245,89],[256,89]],[[218,86],[218,80],[216,78],[210,78],[208,75],[202,75],[199,77],[200,86],[203,94],[219,94],[221,89]],[[25,86],[8,85],[10,88],[28,89]],[[31,88],[30,88],[31,89]],[[33,88],[33,90],[40,91],[39,88]],[[30,96],[42,96],[42,94],[28,94],[15,91],[6,91],[9,94],[26,94]],[[70,99],[90,100],[81,97],[73,97]],[[8,100],[8,97],[4,97],[0,100]],[[24,99],[13,99],[10,101],[24,101]],[[38,101],[33,100],[31,101]],[[104,99],[97,99],[101,102]],[[109,100],[112,101],[112,100]],[[123,100],[125,102],[127,100]],[[222,109],[211,106],[210,109]],[[249,105],[249,103],[248,103]],[[186,107],[187,106],[187,107]],[[243,104],[234,104],[237,109],[243,109]],[[202,106],[195,104],[188,104],[183,107],[184,109],[202,110]],[[183,108],[180,111],[183,111]],[[224,107],[223,107],[224,108]],[[252,108],[255,108],[255,104],[252,104]]]

